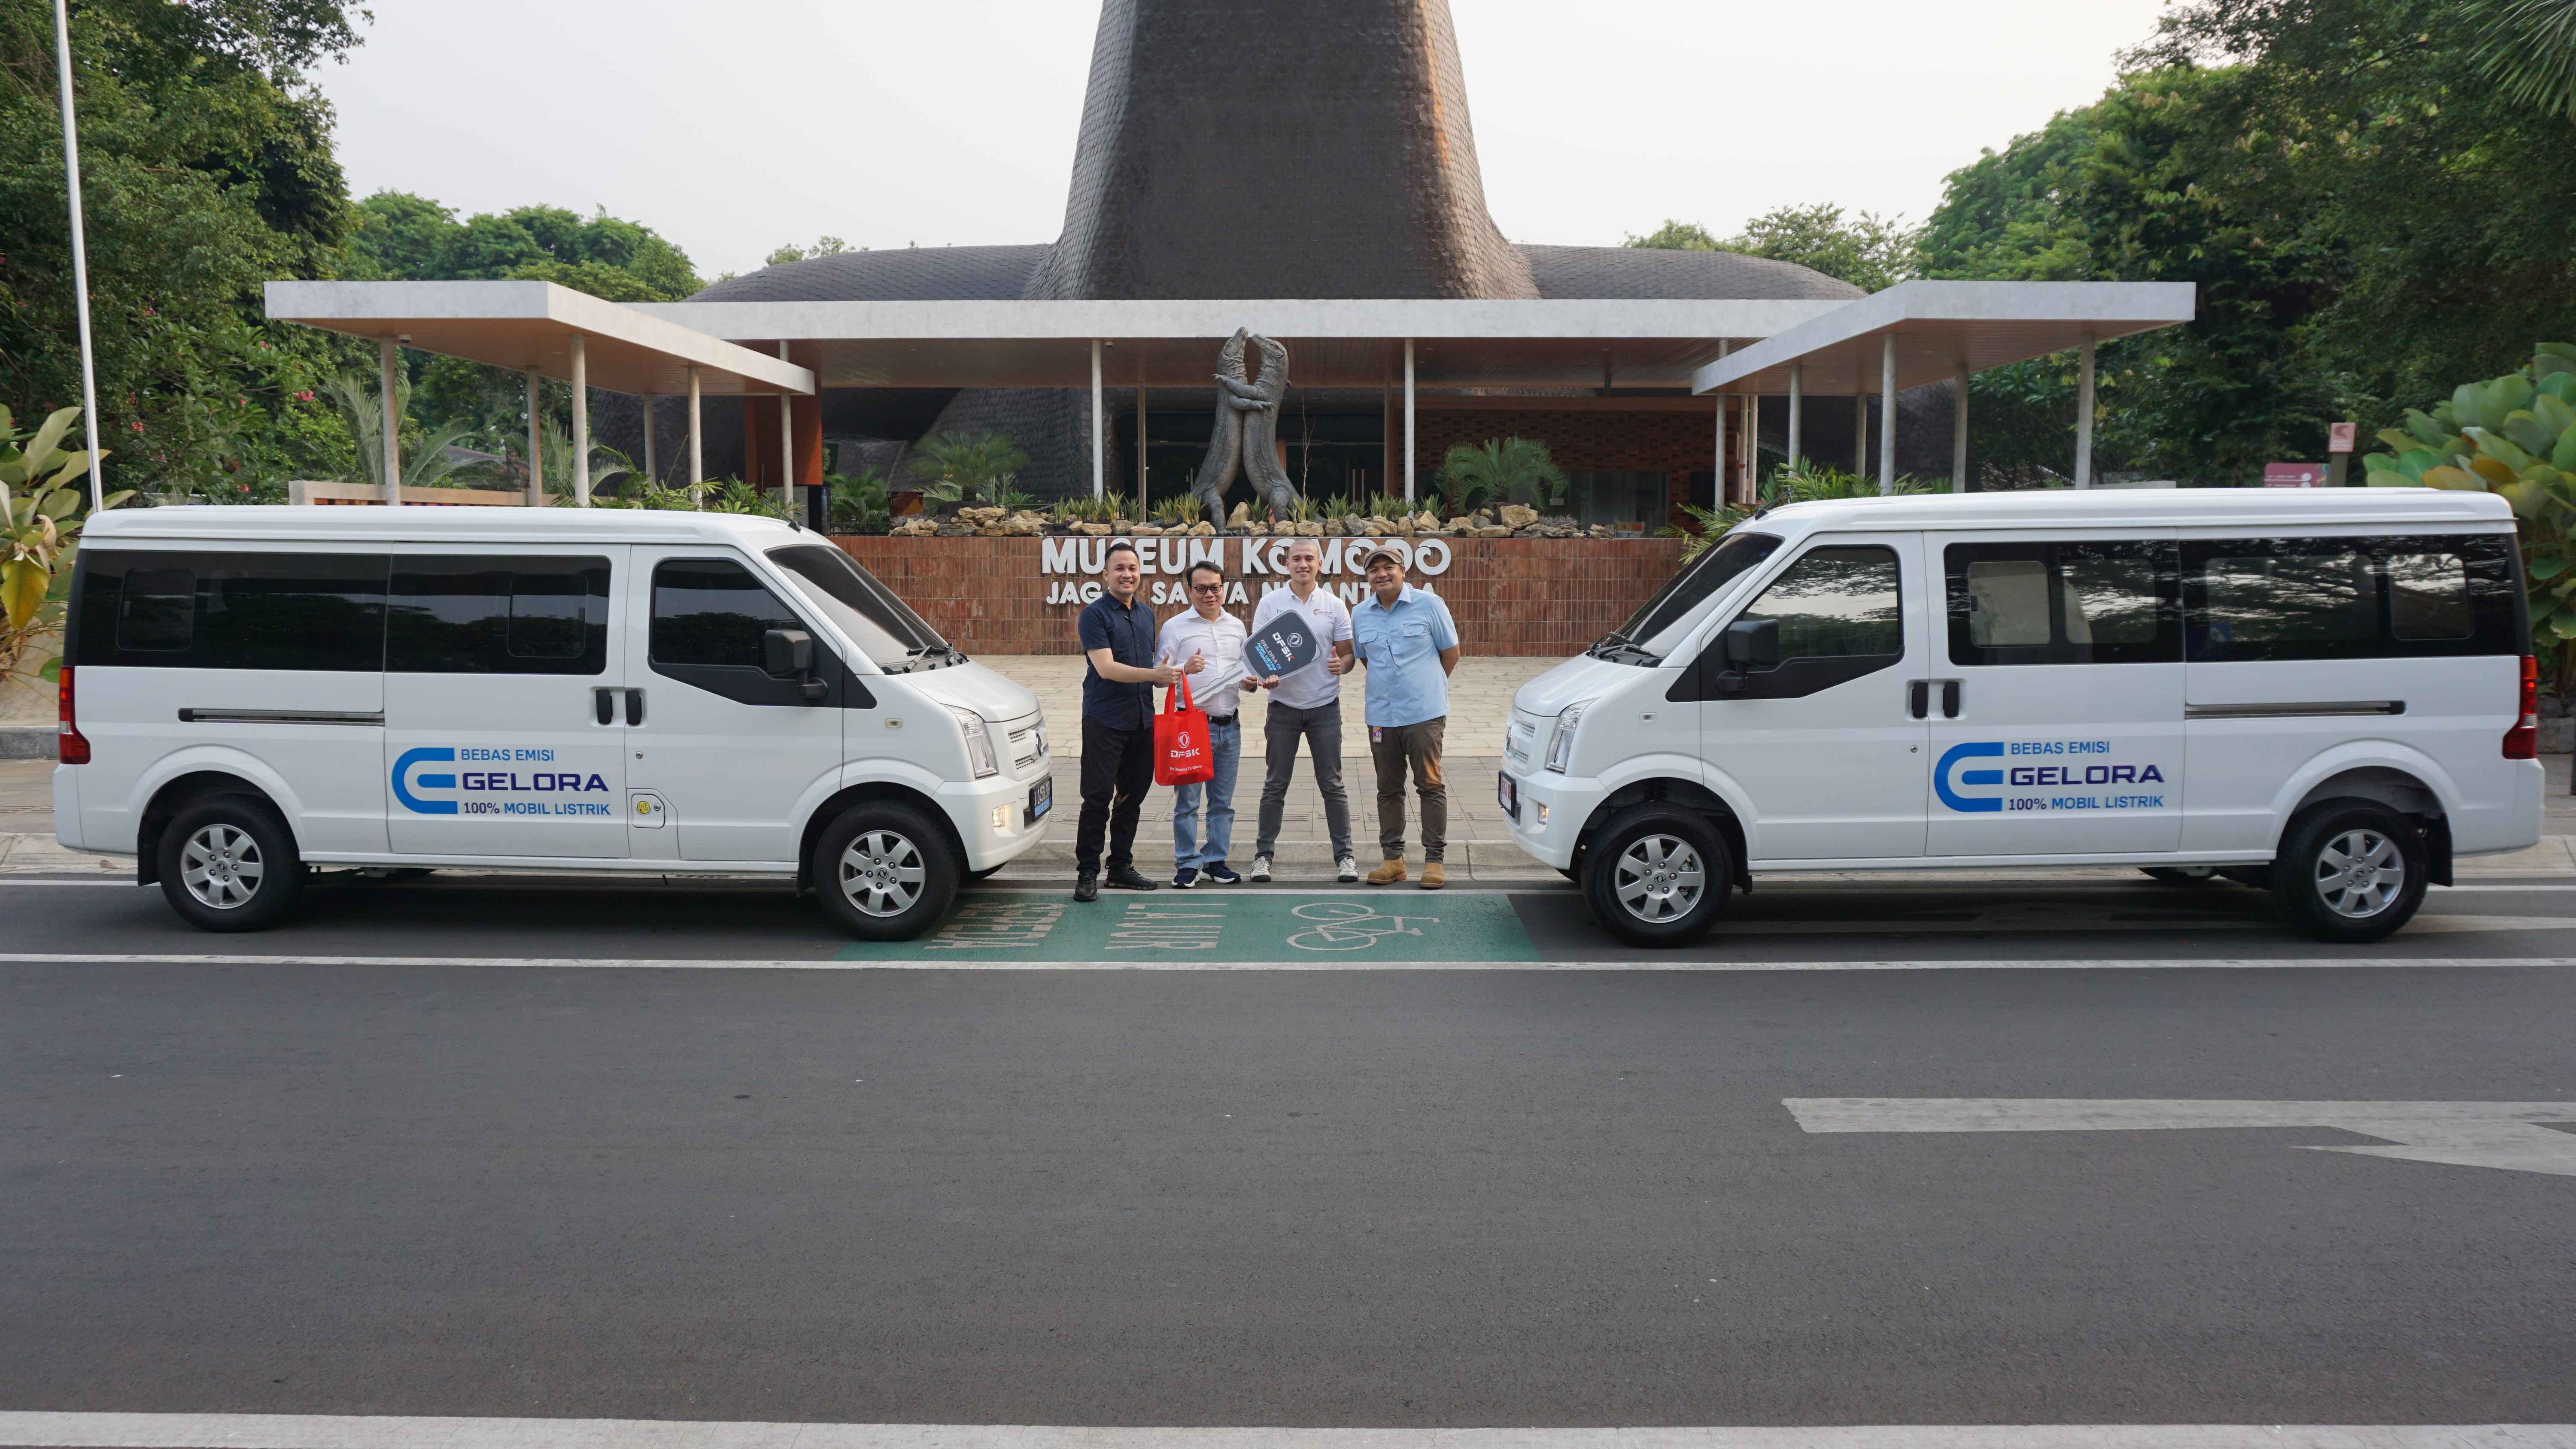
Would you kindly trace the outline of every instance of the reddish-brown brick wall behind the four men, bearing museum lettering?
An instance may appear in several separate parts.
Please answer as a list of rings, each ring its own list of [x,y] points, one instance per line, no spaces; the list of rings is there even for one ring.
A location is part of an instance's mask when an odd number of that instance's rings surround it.
[[[837,538],[871,574],[922,613],[966,654],[1079,654],[1079,602],[1046,602],[1079,574],[1041,574],[1038,538]],[[1458,620],[1468,654],[1582,654],[1628,620],[1682,558],[1680,538],[1448,538],[1450,566],[1430,582]],[[1226,540],[1226,574],[1239,577],[1242,546]],[[1177,574],[1149,571],[1157,582]],[[1247,582],[1247,600],[1273,574]],[[1327,574],[1324,584],[1355,584]],[[1185,605],[1151,605],[1159,618]],[[1249,620],[1252,605],[1231,605]]]

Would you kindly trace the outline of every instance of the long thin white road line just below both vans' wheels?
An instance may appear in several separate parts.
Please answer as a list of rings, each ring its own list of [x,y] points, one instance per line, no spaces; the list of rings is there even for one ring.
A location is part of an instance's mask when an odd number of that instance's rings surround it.
[[[2445,957],[2146,957],[2146,960],[724,960],[580,955],[214,955],[214,952],[0,952],[0,965],[477,965],[495,970],[2566,970],[2568,955]]]

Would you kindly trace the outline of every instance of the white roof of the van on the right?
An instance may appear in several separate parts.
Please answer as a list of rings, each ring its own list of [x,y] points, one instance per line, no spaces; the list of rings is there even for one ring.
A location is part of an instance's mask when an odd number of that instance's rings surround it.
[[[2501,522],[2514,510],[2468,489],[2027,489],[1783,504],[1765,522],[1850,528],[2318,528],[2331,522]]]

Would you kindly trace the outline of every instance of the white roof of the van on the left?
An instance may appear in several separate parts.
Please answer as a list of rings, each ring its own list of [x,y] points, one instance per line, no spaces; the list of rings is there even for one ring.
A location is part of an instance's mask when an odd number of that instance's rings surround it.
[[[819,540],[775,517],[639,507],[118,507],[90,517],[88,543],[734,543]]]

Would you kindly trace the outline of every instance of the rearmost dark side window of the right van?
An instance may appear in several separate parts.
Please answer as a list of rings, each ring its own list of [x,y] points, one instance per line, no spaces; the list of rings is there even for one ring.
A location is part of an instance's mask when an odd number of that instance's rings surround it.
[[[2200,538],[2182,546],[2195,664],[2524,654],[2512,538]]]

